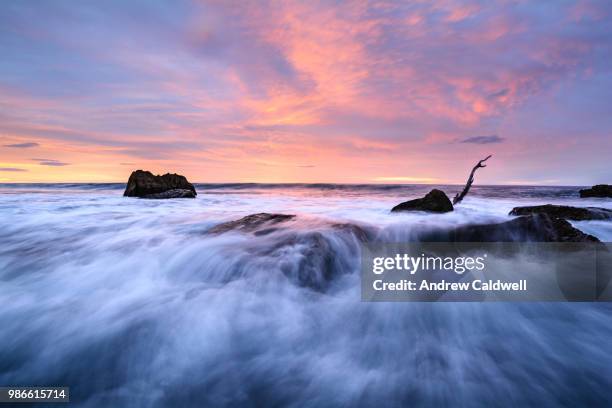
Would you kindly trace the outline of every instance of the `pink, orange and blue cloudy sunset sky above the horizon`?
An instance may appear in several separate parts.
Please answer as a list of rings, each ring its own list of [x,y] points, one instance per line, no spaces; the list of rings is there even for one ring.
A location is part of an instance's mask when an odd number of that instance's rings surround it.
[[[0,182],[612,182],[610,1],[0,3]]]

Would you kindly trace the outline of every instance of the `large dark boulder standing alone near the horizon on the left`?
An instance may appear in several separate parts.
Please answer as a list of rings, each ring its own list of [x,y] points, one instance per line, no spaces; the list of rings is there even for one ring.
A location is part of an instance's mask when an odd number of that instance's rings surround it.
[[[128,180],[126,197],[140,198],[195,198],[195,187],[185,176],[166,173],[155,176],[149,171],[136,170]]]

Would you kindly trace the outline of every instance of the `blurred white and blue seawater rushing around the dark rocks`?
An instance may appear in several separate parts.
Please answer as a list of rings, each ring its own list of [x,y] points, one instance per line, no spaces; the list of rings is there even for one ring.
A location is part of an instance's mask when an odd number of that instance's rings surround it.
[[[389,209],[430,186],[199,185],[193,200],[122,188],[0,185],[0,385],[67,385],[86,407],[612,404],[611,306],[362,303],[359,246],[330,228],[402,240],[516,205],[610,201],[474,187],[453,213],[424,215]],[[282,245],[205,234],[258,212],[298,215]],[[603,241],[611,224],[574,223]],[[313,237],[333,257],[309,251]],[[337,275],[325,290],[298,284],[324,268]]]

